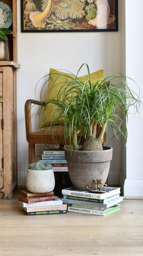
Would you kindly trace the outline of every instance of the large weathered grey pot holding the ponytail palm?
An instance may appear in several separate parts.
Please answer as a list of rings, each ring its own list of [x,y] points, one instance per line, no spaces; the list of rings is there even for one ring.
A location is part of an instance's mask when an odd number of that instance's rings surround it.
[[[102,179],[105,183],[110,161],[112,160],[113,148],[103,146],[103,151],[75,151],[65,148],[68,172],[73,186],[78,190],[86,191],[86,185],[95,189],[93,179]],[[103,186],[103,185],[102,185]]]

